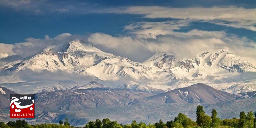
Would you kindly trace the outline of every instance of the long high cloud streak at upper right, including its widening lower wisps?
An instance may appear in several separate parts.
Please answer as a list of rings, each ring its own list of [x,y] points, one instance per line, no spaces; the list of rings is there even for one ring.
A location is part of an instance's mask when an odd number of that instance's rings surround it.
[[[171,8],[160,6],[132,6],[95,11],[97,13],[142,14],[146,18],[174,18],[203,20],[214,24],[256,31],[256,8],[238,7]],[[223,22],[226,21],[226,22]]]

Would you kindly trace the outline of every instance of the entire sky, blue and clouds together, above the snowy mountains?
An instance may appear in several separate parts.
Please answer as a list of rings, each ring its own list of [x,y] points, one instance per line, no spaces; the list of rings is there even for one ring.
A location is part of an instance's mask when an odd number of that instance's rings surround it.
[[[75,38],[138,62],[185,45],[180,59],[210,48],[240,48],[238,55],[255,62],[253,14],[256,1],[247,0],[1,0],[0,65]],[[56,38],[62,34],[68,38]],[[207,46],[190,50],[200,43]]]

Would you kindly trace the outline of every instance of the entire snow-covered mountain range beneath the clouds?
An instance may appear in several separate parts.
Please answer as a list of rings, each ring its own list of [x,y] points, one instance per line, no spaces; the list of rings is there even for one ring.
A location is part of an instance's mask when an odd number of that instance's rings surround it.
[[[175,58],[172,52],[160,52],[138,63],[74,40],[49,45],[36,55],[1,66],[0,85],[16,92],[29,85],[34,93],[96,81],[106,87],[162,92],[200,82],[225,89],[235,83],[254,84],[256,79],[256,67],[227,49],[205,51],[182,61]],[[41,86],[42,81],[54,84]],[[39,84],[22,84],[34,82]]]

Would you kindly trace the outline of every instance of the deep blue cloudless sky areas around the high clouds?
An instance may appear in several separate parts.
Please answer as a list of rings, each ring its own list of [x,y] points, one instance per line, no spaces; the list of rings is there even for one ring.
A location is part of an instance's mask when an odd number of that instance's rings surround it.
[[[14,1],[15,2],[15,1]],[[33,4],[33,1],[29,3]],[[56,5],[57,7],[51,7],[48,4]],[[82,5],[81,5],[82,4]],[[95,32],[103,32],[110,35],[126,34],[123,32],[123,27],[127,23],[133,21],[162,21],[163,19],[147,19],[141,18],[141,15],[131,14],[97,14],[87,13],[86,11],[95,11],[105,8],[113,7],[125,7],[125,6],[171,6],[177,8],[186,7],[212,7],[212,6],[238,6],[244,8],[254,8],[256,6],[255,1],[185,1],[185,0],[170,0],[170,1],[124,1],[124,0],[71,0],[71,1],[54,1],[48,0],[36,5],[35,8],[21,7],[8,5],[7,3],[1,4],[0,9],[0,41],[4,43],[16,43],[22,42],[27,37],[43,38],[45,35],[55,37],[61,33],[71,34],[87,34]],[[26,5],[26,4],[25,4]],[[64,9],[67,6],[77,6],[78,10],[71,10],[70,12],[47,12],[47,10]],[[36,10],[42,10],[44,13],[36,13]],[[73,12],[72,12],[73,11]],[[227,27],[222,28],[221,26],[211,24],[193,24],[191,28],[197,28],[205,26],[218,27],[219,30],[228,30],[232,32],[232,29]],[[243,31],[243,30],[240,30]],[[245,33],[244,33],[245,32]],[[234,32],[236,34],[248,35],[251,38],[252,34],[248,31]]]

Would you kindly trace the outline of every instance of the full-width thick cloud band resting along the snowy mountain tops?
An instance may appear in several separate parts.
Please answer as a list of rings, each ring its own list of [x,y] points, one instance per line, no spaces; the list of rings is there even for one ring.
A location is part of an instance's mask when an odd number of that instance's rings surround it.
[[[112,36],[105,33],[92,33],[90,35],[63,33],[54,38],[46,35],[44,39],[27,38],[25,39],[26,42],[22,43],[1,43],[1,64],[7,63],[8,58],[17,57],[16,60],[22,59],[36,54],[47,45],[66,43],[74,39],[88,41],[102,51],[138,62],[143,62],[156,52],[174,52],[177,60],[183,60],[194,57],[202,51],[230,49],[247,61],[253,64],[256,63],[256,43],[246,37],[238,37],[225,31],[197,29],[188,32],[174,31],[180,27],[188,26],[190,22],[190,20],[182,22],[177,20],[135,22],[124,27],[124,30],[128,31],[128,35],[125,36]]]

